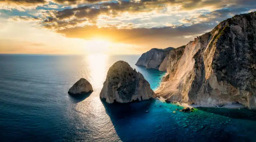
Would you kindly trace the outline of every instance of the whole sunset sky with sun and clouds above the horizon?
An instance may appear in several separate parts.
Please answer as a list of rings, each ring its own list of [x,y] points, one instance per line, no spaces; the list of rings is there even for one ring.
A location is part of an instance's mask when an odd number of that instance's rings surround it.
[[[0,53],[141,54],[253,11],[255,0],[0,0]]]

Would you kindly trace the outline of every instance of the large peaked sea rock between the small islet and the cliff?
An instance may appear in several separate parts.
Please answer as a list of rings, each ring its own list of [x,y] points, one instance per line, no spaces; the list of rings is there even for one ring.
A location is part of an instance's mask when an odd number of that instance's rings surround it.
[[[154,91],[148,81],[125,61],[118,61],[109,68],[100,92],[100,98],[107,103],[142,101],[153,96]]]

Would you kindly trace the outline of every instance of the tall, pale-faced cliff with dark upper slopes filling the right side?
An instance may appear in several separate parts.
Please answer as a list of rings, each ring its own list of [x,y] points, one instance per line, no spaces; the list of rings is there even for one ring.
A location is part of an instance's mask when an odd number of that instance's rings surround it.
[[[187,44],[158,96],[188,104],[256,109],[256,13],[236,15]]]

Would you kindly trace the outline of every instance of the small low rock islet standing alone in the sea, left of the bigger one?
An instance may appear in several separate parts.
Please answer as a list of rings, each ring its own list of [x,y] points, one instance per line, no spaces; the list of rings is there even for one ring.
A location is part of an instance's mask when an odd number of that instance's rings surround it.
[[[69,94],[90,94],[92,93],[92,85],[84,78],[79,79],[68,91]]]

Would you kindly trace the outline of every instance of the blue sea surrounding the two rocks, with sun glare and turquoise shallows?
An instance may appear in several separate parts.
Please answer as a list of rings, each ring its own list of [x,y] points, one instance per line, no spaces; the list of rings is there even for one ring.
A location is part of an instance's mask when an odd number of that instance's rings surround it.
[[[99,94],[108,68],[127,61],[152,89],[164,72],[135,66],[139,56],[0,55],[0,141],[256,142],[256,113],[148,100],[106,104]],[[94,92],[72,97],[81,77]],[[146,113],[146,111],[149,111]]]

